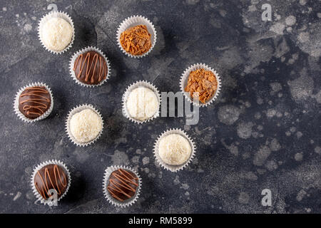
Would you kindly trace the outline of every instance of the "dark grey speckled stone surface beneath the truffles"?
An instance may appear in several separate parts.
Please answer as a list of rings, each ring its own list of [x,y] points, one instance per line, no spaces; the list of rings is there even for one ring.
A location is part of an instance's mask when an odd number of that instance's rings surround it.
[[[9,213],[295,213],[321,212],[320,1],[56,1],[74,21],[76,40],[62,55],[46,51],[37,24],[51,1],[0,3],[0,212]],[[272,6],[262,21],[261,6]],[[145,58],[126,57],[116,46],[116,29],[141,14],[158,33]],[[112,75],[103,86],[83,88],[69,76],[72,53],[101,48]],[[218,100],[200,109],[198,125],[184,118],[158,118],[135,125],[121,114],[128,84],[153,82],[178,91],[179,78],[192,63],[220,73]],[[46,120],[27,124],[13,112],[21,86],[43,81],[54,93]],[[101,139],[76,147],[67,138],[68,110],[91,103],[101,111]],[[185,170],[172,173],[155,164],[153,143],[168,128],[183,128],[198,146]],[[33,168],[62,160],[72,175],[58,207],[35,204]],[[128,165],[143,179],[133,207],[120,209],[103,198],[103,172]],[[261,191],[272,191],[263,207]]]

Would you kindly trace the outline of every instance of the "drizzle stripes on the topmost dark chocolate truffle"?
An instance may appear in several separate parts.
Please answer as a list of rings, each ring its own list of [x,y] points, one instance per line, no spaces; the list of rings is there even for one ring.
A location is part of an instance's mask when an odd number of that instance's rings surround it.
[[[95,76],[95,70],[96,70],[96,66],[98,63],[98,58],[99,58],[99,73],[98,73],[98,82],[100,82],[101,80],[103,80],[104,76],[106,76],[107,73],[107,63],[106,61],[104,61],[103,57],[98,56],[98,53],[95,53],[93,56],[93,59],[91,61],[90,64],[90,57],[91,57],[91,53],[87,53],[85,59],[83,60],[83,54],[81,53],[75,61],[75,64],[73,65],[73,71],[76,70],[78,63],[80,64],[80,68],[79,68],[79,73],[78,75],[76,75],[77,78],[81,77],[81,74],[83,72],[83,68],[86,65],[86,77],[85,77],[85,81],[88,81],[88,79],[90,79],[91,83],[93,83],[93,78]],[[87,64],[86,64],[87,61]],[[91,69],[93,68],[93,73],[90,76],[90,72]]]

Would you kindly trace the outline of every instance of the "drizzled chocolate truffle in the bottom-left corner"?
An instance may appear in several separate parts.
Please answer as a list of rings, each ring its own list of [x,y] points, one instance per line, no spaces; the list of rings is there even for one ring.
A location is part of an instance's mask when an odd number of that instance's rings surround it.
[[[68,172],[60,165],[46,165],[34,176],[34,186],[41,197],[49,199],[49,190],[54,189],[57,197],[61,197],[68,187]]]

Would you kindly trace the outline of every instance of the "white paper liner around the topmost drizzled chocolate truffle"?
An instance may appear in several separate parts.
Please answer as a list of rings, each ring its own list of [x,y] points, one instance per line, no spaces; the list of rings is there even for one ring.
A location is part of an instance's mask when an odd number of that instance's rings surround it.
[[[101,81],[100,83],[96,84],[96,85],[88,85],[86,83],[82,83],[81,81],[78,80],[78,78],[76,77],[76,74],[75,72],[73,71],[73,65],[76,61],[76,58],[82,54],[82,53],[86,53],[87,51],[96,51],[97,53],[99,53],[101,56],[103,56],[103,58],[105,58],[105,61],[107,63],[107,69],[108,69],[108,72],[107,72],[107,76],[106,78]],[[76,81],[76,83],[78,83],[79,85],[81,86],[86,86],[86,87],[95,87],[95,86],[101,86],[103,85],[103,83],[105,81],[107,81],[107,79],[109,78],[109,76],[111,75],[111,64],[109,63],[108,61],[108,58],[105,56],[105,54],[103,53],[103,51],[101,51],[99,48],[96,48],[96,47],[93,47],[93,46],[88,46],[86,48],[83,48],[81,49],[80,51],[77,51],[76,53],[73,53],[73,56],[71,56],[71,60],[69,62],[69,71],[70,71],[70,74],[71,74],[71,77],[73,78],[74,81]]]

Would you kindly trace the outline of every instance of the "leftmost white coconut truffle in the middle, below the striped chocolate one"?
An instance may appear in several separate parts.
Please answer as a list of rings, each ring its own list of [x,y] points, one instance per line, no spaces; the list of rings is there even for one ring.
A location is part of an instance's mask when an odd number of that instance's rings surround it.
[[[78,142],[94,140],[103,129],[100,116],[91,109],[74,114],[70,121],[70,130]]]

